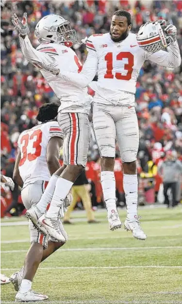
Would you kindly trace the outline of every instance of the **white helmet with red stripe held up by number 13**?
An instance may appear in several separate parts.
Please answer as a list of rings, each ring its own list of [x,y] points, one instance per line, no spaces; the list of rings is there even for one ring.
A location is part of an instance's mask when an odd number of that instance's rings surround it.
[[[160,49],[169,46],[174,39],[165,32],[165,28],[170,24],[169,21],[157,20],[143,24],[136,36],[140,48],[149,53],[155,53]]]

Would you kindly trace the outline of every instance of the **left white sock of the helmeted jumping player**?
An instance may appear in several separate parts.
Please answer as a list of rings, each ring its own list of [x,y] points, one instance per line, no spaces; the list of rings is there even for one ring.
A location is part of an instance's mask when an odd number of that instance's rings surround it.
[[[54,189],[55,189],[55,186],[56,186],[56,182],[58,180],[58,177],[57,175],[53,174],[51,177],[50,177],[50,181],[44,191],[44,193],[42,194],[41,196],[41,199],[40,201],[36,204],[36,207],[42,212],[44,213],[46,211],[46,208],[48,206],[48,204],[51,202],[51,199],[52,199],[52,195],[54,193]]]

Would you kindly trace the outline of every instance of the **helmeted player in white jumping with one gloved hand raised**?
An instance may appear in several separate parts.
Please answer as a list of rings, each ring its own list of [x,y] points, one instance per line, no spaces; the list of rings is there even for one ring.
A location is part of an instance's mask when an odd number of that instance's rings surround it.
[[[33,48],[28,37],[30,30],[27,14],[24,13],[22,21],[14,14],[12,22],[19,32],[24,57],[40,69],[61,101],[58,109],[58,123],[65,135],[63,146],[65,168],[64,171],[60,169],[51,176],[41,200],[36,207],[27,211],[27,217],[40,229],[46,229],[51,237],[62,241],[58,214],[66,195],[87,162],[90,142],[88,113],[92,97],[87,94],[86,88],[61,80],[41,67],[42,64],[53,64],[56,68],[67,69],[74,73],[81,72],[82,64],[76,53],[69,48],[73,43],[79,43],[77,34],[71,29],[69,21],[58,15],[43,17],[35,28],[35,35],[40,42],[36,49]],[[49,202],[50,208],[45,215]]]

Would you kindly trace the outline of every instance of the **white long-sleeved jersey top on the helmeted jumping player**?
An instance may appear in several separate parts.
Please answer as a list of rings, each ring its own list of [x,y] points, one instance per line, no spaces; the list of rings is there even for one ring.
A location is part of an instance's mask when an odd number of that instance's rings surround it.
[[[55,95],[60,99],[61,106],[58,110],[66,112],[89,113],[92,97],[87,94],[87,88],[73,85],[66,80],[61,80],[50,72],[44,71],[39,63],[53,64],[60,70],[80,73],[82,63],[76,53],[64,44],[41,43],[33,48],[28,36],[19,37],[20,46],[24,57],[40,69],[45,80],[48,81]]]

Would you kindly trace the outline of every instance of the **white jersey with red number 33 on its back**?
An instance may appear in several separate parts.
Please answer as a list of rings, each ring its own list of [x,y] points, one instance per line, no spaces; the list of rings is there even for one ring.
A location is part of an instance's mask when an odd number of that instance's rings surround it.
[[[56,121],[37,125],[20,134],[17,144],[21,160],[18,168],[23,180],[23,187],[36,180],[50,180],[46,154],[48,143],[52,137],[64,139],[64,134]]]

